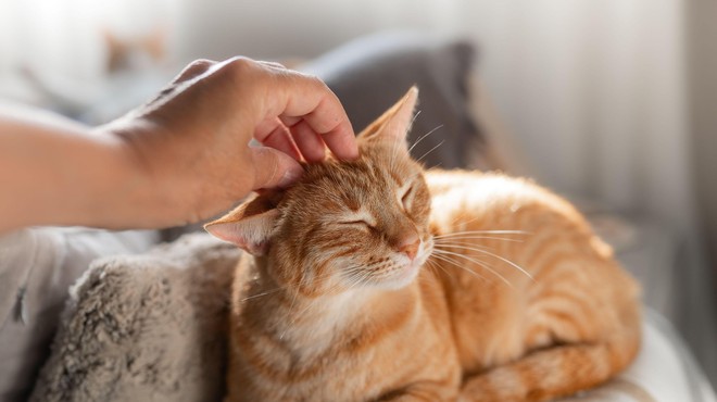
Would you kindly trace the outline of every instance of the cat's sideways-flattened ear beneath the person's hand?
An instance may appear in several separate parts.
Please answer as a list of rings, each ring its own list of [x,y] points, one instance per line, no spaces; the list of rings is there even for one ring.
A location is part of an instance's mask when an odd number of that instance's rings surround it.
[[[204,229],[253,255],[264,255],[279,218],[276,208],[279,197],[276,192],[255,196],[228,214],[204,225]]]

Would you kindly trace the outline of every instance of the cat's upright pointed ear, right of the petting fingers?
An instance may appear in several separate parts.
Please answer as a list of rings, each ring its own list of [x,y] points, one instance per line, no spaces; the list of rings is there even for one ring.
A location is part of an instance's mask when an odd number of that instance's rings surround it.
[[[405,145],[406,135],[411,130],[411,124],[413,123],[413,111],[416,108],[417,101],[418,88],[413,86],[391,109],[366,127],[358,135],[358,138],[367,142],[390,140]]]

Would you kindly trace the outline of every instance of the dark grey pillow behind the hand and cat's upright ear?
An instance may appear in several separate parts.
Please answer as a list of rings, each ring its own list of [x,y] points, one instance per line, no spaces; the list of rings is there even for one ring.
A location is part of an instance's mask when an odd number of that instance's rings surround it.
[[[417,85],[420,114],[410,143],[436,131],[412,153],[423,158],[428,167],[452,168],[466,166],[469,147],[486,145],[469,111],[473,60],[474,49],[466,41],[442,41],[417,33],[383,33],[349,42],[300,70],[328,84],[356,131]]]

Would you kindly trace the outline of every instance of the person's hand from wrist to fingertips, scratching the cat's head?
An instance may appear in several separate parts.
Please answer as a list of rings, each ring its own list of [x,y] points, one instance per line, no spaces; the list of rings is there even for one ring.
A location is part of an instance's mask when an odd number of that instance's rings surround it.
[[[236,58],[190,64],[161,95],[106,126],[137,175],[147,226],[213,216],[251,190],[285,187],[325,148],[357,158],[351,124],[318,78]],[[262,147],[249,147],[254,138]],[[143,225],[144,226],[144,225]]]

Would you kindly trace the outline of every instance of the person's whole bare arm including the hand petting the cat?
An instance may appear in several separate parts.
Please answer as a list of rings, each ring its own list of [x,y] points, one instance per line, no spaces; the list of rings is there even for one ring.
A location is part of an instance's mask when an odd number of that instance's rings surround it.
[[[198,222],[251,190],[288,185],[301,174],[295,160],[322,160],[325,145],[357,156],[334,93],[241,58],[196,62],[158,99],[97,128],[0,113],[0,233]]]

